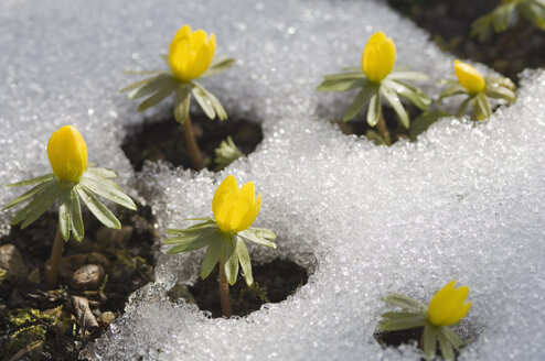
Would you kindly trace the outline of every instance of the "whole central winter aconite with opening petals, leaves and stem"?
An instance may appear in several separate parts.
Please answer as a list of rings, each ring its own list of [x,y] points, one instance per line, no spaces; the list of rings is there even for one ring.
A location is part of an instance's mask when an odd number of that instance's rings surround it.
[[[172,237],[164,244],[175,244],[169,253],[180,253],[197,250],[206,247],[201,277],[206,278],[220,264],[220,300],[222,313],[231,317],[229,287],[236,282],[241,269],[248,286],[254,283],[252,263],[248,250],[244,241],[260,245],[276,248],[276,243],[269,241],[276,234],[264,228],[250,227],[259,214],[261,195],[255,195],[254,183],[248,182],[238,187],[236,178],[228,175],[217,187],[212,199],[212,218],[194,218],[204,222],[185,229],[169,229]],[[191,219],[190,219],[191,220]]]

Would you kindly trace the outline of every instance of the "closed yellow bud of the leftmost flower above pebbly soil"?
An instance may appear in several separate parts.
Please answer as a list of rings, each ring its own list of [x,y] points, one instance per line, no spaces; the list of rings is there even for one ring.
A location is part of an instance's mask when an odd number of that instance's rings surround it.
[[[77,182],[87,171],[87,144],[72,125],[64,125],[51,135],[47,157],[58,179]]]

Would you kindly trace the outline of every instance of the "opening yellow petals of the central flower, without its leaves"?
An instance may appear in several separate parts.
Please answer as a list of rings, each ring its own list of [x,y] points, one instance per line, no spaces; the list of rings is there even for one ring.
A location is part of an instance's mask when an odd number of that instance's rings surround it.
[[[241,188],[234,176],[227,176],[217,187],[212,200],[212,211],[220,229],[225,233],[237,233],[252,226],[259,214],[261,194],[255,198],[254,184]]]

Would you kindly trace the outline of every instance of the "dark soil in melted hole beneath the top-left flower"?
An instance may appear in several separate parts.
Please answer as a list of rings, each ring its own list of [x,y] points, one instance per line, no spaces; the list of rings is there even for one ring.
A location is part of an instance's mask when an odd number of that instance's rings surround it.
[[[263,140],[260,124],[244,119],[229,118],[220,121],[210,120],[201,114],[192,117],[192,122],[205,165],[211,171],[217,171],[214,163],[215,149],[228,135],[244,154],[252,153]],[[172,117],[132,129],[121,147],[137,172],[142,169],[146,160],[165,161],[173,166],[192,168],[182,125]]]

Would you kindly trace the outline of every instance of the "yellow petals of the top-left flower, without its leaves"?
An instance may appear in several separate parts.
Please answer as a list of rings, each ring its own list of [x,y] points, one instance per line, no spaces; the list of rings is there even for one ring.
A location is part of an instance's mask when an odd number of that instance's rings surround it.
[[[216,50],[216,36],[207,36],[204,30],[191,31],[183,25],[170,43],[169,65],[181,81],[197,78],[212,63]]]

